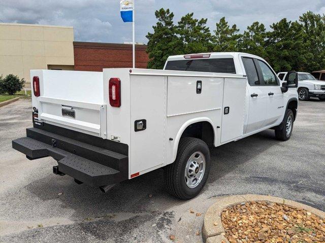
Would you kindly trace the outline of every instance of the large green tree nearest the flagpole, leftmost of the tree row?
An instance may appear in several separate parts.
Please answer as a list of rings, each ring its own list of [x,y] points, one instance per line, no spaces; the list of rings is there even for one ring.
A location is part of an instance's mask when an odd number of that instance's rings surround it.
[[[174,14],[169,9],[161,8],[155,11],[155,16],[158,22],[152,26],[153,33],[146,35],[149,40],[147,68],[163,69],[169,56],[183,54],[183,42],[177,35],[177,27],[173,22]]]

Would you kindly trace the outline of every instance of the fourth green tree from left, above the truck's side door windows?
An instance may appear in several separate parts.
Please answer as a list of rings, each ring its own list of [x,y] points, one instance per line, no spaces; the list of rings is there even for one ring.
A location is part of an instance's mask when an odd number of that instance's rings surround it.
[[[254,22],[247,27],[247,30],[240,36],[238,49],[240,52],[250,53],[259,57],[266,56],[266,29],[264,24]]]

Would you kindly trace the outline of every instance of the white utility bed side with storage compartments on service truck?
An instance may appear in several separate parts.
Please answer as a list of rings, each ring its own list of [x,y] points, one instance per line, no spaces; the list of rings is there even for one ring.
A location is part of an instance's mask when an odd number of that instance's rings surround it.
[[[210,123],[215,146],[243,136],[247,82],[243,75],[104,69],[105,82],[111,77],[121,79],[122,105],[108,105],[107,135],[128,141],[130,176],[173,163],[180,137],[190,124]],[[201,94],[196,92],[198,81],[202,82]],[[232,107],[229,114],[224,114],[225,107]],[[135,132],[135,121],[140,119],[146,119],[147,128]],[[125,127],[129,128],[129,135]]]

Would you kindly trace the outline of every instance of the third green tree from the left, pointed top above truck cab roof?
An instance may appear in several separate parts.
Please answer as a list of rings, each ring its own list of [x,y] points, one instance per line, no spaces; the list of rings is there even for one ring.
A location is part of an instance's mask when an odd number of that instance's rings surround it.
[[[232,27],[225,21],[225,17],[222,17],[219,23],[216,23],[216,29],[214,30],[214,48],[215,52],[236,52],[238,51],[238,34],[239,29],[234,24]]]

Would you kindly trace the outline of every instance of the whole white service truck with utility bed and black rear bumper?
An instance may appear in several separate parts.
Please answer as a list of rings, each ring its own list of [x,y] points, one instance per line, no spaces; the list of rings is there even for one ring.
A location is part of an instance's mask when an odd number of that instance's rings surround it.
[[[297,73],[280,85],[265,60],[245,53],[172,56],[164,70],[30,74],[34,127],[13,148],[51,156],[54,174],[104,192],[164,168],[168,191],[192,198],[207,181],[209,147],[266,129],[287,140],[297,115]]]

